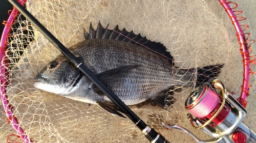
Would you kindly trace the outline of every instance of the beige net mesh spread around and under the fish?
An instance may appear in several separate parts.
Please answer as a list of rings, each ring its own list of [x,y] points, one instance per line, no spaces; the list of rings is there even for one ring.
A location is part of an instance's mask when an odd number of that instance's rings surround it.
[[[83,30],[92,22],[105,27],[125,27],[127,31],[163,43],[179,68],[224,64],[219,79],[230,91],[241,92],[243,63],[236,32],[219,2],[212,1],[28,1],[27,9],[66,47],[83,41]],[[246,21],[244,21],[246,23]],[[110,115],[98,106],[74,101],[34,88],[34,77],[59,51],[31,23],[20,15],[8,39],[10,84],[7,95],[12,111],[29,138],[37,142],[146,142],[129,120]],[[252,53],[253,54],[253,53]],[[251,67],[252,70],[255,67]],[[255,70],[254,70],[255,71]],[[254,87],[252,75],[250,84]],[[255,93],[250,89],[251,95]],[[148,125],[171,142],[195,142],[189,135],[167,130],[161,123],[178,124],[200,138],[210,138],[194,130],[186,119],[184,102],[193,89],[175,90],[176,102],[169,111],[144,102],[130,106]],[[245,123],[252,127],[253,96],[249,97]],[[250,103],[252,102],[252,103]],[[0,110],[3,111],[1,108]],[[13,128],[0,117],[1,142]],[[17,137],[10,138],[17,140]],[[18,139],[20,140],[20,139]]]

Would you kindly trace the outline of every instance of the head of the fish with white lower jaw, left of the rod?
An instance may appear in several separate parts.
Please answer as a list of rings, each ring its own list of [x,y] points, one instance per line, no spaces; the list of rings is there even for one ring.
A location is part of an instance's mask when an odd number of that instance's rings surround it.
[[[54,94],[68,94],[82,73],[67,59],[55,59],[35,77],[34,87]]]

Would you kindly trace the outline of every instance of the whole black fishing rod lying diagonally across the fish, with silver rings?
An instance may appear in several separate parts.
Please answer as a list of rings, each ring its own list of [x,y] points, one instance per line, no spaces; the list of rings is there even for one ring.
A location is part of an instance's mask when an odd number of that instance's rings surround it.
[[[57,38],[55,38],[47,28],[42,25],[29,11],[27,11],[16,0],[8,0],[20,13],[22,13],[37,29],[44,35],[62,54],[67,58],[98,88],[100,88],[112,102],[114,102],[126,116],[129,117],[133,123],[143,132],[145,137],[151,142],[168,143],[160,133],[157,133],[153,128],[147,126],[129,107],[127,107],[110,89],[108,89],[86,66],[84,66],[76,56],[68,50]]]

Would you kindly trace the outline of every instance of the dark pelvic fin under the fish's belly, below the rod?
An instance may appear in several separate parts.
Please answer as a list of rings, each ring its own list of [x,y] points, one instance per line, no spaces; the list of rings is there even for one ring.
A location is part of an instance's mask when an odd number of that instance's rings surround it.
[[[110,112],[122,118],[126,118],[121,114],[121,113],[124,113],[124,114],[126,113],[123,112],[120,108],[118,108],[113,102],[95,102],[95,103],[107,112]]]

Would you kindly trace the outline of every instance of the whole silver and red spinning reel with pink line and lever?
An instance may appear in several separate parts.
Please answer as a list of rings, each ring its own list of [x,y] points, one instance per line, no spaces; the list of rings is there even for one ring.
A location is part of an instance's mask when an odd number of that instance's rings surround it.
[[[202,129],[214,137],[213,139],[200,140],[183,127],[163,125],[169,129],[184,131],[195,138],[197,142],[256,142],[256,134],[242,122],[246,110],[235,99],[236,95],[226,90],[223,83],[218,79],[215,79],[213,84],[216,89],[221,90],[221,96],[206,85],[202,85],[191,92],[185,102],[185,108],[196,117],[193,119],[190,113],[187,115],[191,125],[197,129]]]

